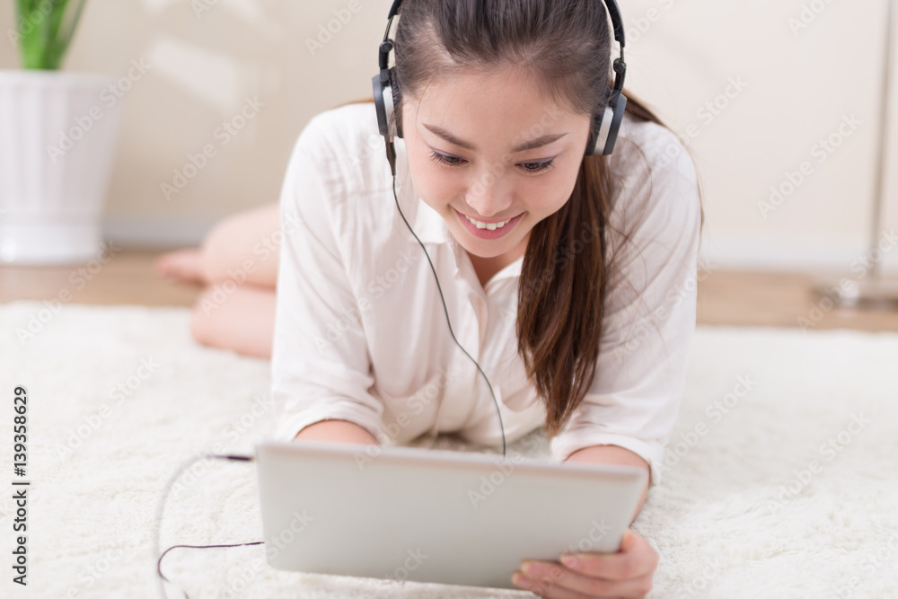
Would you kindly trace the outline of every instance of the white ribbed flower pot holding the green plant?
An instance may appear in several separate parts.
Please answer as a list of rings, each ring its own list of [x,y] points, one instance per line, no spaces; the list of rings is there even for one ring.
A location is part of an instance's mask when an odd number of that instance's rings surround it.
[[[101,251],[121,112],[114,82],[0,70],[0,263],[71,264]]]

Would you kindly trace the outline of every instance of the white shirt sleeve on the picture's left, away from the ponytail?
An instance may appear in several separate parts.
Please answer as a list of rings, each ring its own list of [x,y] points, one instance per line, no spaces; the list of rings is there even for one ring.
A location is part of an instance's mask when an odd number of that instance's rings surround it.
[[[334,226],[347,183],[322,115],[297,139],[281,189],[271,352],[275,436],[293,440],[315,422],[340,419],[383,441],[383,403],[368,392],[371,360]]]

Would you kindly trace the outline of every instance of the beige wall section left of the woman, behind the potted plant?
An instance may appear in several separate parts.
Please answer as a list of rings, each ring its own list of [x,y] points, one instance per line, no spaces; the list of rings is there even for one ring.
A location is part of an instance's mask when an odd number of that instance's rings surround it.
[[[207,10],[195,7],[208,4]],[[277,201],[288,154],[314,114],[371,94],[390,0],[89,0],[66,61],[73,71],[150,69],[125,94],[104,233],[124,242],[195,244],[223,216]],[[357,8],[357,12],[349,10]],[[313,52],[305,40],[335,18]],[[12,24],[0,7],[0,31]],[[18,65],[0,40],[0,68]],[[265,104],[232,137],[216,128],[245,98]],[[216,156],[179,193],[163,183],[213,144]]]

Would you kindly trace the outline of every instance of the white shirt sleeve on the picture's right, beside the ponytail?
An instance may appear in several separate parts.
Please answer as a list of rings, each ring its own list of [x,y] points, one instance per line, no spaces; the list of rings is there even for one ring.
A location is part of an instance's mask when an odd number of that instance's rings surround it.
[[[648,462],[653,487],[695,330],[700,199],[691,158],[673,133],[660,129],[637,151],[621,141],[621,155],[612,154],[620,183],[607,237],[615,267],[594,380],[550,449],[563,462],[591,445],[624,447]]]

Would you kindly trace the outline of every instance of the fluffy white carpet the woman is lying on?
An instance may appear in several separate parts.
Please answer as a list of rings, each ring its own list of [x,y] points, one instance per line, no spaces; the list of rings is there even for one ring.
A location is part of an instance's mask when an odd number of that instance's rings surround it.
[[[251,453],[273,429],[269,362],[198,346],[186,308],[42,309],[0,305],[0,595],[158,596],[163,484],[189,456]],[[32,315],[40,330],[22,343]],[[685,438],[683,455],[633,526],[661,554],[650,596],[898,596],[896,365],[894,334],[700,327],[669,445]],[[15,385],[30,393],[27,592],[11,580]],[[251,463],[182,482],[163,547],[261,539]],[[163,569],[190,597],[533,596],[263,559],[262,546],[175,550]]]

